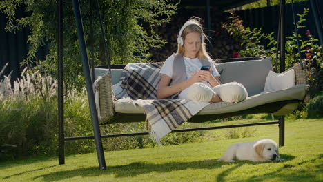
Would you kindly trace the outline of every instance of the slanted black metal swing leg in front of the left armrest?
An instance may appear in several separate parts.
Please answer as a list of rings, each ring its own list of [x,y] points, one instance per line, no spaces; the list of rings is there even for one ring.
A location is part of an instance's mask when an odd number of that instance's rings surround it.
[[[104,159],[104,150],[102,147],[101,133],[99,129],[99,120],[97,117],[97,108],[95,107],[95,97],[92,88],[92,79],[90,75],[90,66],[88,65],[88,53],[86,52],[86,42],[84,39],[84,29],[81,19],[81,10],[79,8],[79,0],[72,0],[73,10],[75,14],[75,21],[77,24],[77,36],[79,37],[79,46],[81,49],[81,58],[83,63],[84,77],[86,79],[86,90],[88,92],[88,102],[90,104],[90,112],[92,125],[95,135],[95,146],[97,149],[97,157],[99,160],[99,168],[106,169],[106,161]]]

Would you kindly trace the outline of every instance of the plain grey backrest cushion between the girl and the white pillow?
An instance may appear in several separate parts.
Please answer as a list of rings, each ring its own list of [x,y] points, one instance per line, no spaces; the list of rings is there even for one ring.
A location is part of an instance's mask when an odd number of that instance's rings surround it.
[[[269,71],[273,70],[271,58],[238,61],[216,64],[217,71],[221,74],[222,83],[237,81],[246,88],[249,97],[264,91],[264,84]]]

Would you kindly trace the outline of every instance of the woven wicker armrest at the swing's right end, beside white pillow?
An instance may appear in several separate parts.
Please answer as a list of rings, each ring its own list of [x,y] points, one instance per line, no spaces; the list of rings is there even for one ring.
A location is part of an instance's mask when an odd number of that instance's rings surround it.
[[[302,69],[303,65],[303,69]],[[288,70],[294,70],[295,71],[295,85],[309,85],[309,81],[307,80],[307,72],[306,72],[306,63],[301,62],[297,65],[294,65],[292,68],[289,68]],[[288,70],[284,71],[287,72]],[[283,72],[283,73],[284,73]],[[306,96],[304,98],[304,102],[309,102],[310,94],[309,89],[306,92]]]

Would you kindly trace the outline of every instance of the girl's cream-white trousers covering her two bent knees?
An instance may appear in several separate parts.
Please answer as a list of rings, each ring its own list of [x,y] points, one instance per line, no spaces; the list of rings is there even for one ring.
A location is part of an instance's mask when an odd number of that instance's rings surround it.
[[[238,103],[248,97],[248,92],[244,85],[231,82],[217,85],[214,88],[204,83],[194,83],[179,94],[179,99],[190,99],[193,101],[209,102],[217,94],[222,101],[228,103]]]

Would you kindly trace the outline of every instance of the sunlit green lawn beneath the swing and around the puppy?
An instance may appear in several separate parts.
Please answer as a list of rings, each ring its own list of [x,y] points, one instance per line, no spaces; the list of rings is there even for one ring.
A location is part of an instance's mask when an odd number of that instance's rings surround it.
[[[215,138],[207,142],[106,152],[104,171],[96,153],[66,156],[65,165],[54,157],[6,161],[0,163],[0,181],[323,181],[322,121],[286,121],[282,162],[217,161],[232,143],[278,141],[277,125],[264,125],[249,138],[216,139],[226,130],[212,130]]]

